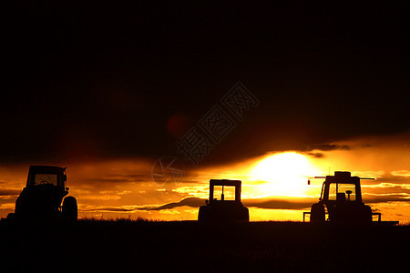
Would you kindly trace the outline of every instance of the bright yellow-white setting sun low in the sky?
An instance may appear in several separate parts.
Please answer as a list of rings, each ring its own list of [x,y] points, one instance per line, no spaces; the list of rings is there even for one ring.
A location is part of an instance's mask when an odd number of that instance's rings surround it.
[[[319,173],[307,157],[295,152],[286,152],[266,157],[251,169],[251,179],[265,181],[261,193],[270,196],[305,195],[307,177]]]

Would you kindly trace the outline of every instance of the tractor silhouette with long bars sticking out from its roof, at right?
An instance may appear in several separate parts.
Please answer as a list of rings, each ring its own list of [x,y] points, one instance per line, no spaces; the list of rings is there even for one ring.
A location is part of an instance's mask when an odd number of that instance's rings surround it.
[[[310,214],[310,221],[313,224],[323,224],[330,222],[333,224],[390,224],[395,225],[397,221],[381,221],[380,213],[373,213],[372,208],[364,205],[362,199],[362,189],[360,179],[374,179],[364,177],[352,177],[350,172],[335,171],[334,176],[312,177],[324,178],[322,194],[319,202],[313,204]],[[311,184],[310,179],[308,185]],[[326,212],[327,210],[327,212]],[[325,216],[328,215],[328,219]],[[373,217],[378,216],[377,221]]]

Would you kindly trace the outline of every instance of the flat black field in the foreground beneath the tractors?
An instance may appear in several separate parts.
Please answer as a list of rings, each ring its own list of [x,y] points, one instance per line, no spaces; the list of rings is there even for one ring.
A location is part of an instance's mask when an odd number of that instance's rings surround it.
[[[7,272],[406,271],[410,258],[410,226],[80,220],[0,232]]]

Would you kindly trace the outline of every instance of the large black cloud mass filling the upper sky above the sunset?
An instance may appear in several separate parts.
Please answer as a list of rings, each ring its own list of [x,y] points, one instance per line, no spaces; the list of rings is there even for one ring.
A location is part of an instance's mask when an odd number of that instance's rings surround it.
[[[339,149],[312,144],[410,126],[398,4],[9,1],[5,10],[3,162],[182,158],[171,117],[195,124],[238,81],[260,105],[201,165]]]

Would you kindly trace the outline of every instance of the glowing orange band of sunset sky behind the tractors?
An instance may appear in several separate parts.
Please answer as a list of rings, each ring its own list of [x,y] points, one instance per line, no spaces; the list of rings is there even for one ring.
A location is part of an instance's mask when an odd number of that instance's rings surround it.
[[[79,217],[145,217],[187,220],[198,217],[210,178],[242,180],[242,203],[251,220],[302,220],[317,202],[323,180],[307,177],[352,171],[364,180],[364,203],[384,220],[410,221],[410,134],[368,136],[328,143],[309,151],[282,151],[218,167],[186,167],[178,185],[152,181],[154,161],[145,158],[93,162],[42,162],[67,166],[70,195]],[[39,163],[36,163],[39,164]],[[0,216],[15,207],[25,186],[26,165],[0,166]]]

